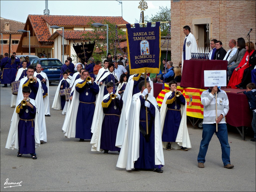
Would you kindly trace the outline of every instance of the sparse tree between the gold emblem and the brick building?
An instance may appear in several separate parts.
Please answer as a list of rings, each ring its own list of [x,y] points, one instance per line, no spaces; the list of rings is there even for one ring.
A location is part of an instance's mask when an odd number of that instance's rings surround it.
[[[165,22],[165,21],[171,22],[171,8],[159,6],[159,12],[157,12],[154,16],[151,14],[151,18],[149,18],[149,19],[147,16],[144,17],[144,23]],[[138,20],[136,20],[136,19],[135,19],[135,22],[139,23]],[[170,26],[169,23],[161,23],[160,24],[161,36],[167,36],[169,26]]]

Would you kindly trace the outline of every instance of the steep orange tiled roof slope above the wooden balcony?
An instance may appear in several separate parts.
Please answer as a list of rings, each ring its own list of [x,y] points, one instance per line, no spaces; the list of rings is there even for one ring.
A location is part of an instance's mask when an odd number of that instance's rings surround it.
[[[28,15],[28,19],[30,20],[38,41],[48,41],[47,39],[51,34],[42,15]]]

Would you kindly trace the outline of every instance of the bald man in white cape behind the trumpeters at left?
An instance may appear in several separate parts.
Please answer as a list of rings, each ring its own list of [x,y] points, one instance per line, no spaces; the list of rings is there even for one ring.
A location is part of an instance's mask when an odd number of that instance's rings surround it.
[[[50,102],[49,102],[49,80],[46,73],[41,71],[40,64],[36,65],[36,71],[34,75],[36,77],[42,76],[43,79],[41,80],[41,83],[46,84],[48,92],[45,94],[45,97],[43,97],[43,102],[44,102],[45,116],[50,117],[51,115],[50,115]]]

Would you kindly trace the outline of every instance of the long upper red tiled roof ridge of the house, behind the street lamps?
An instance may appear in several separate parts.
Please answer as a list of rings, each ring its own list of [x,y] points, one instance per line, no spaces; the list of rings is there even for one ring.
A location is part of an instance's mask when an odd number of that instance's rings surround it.
[[[69,15],[42,15],[42,18],[49,25],[58,26],[91,26],[91,22],[104,23],[107,21],[112,24],[127,24],[123,17],[100,17],[100,16],[69,16]],[[126,27],[126,26],[122,26]]]

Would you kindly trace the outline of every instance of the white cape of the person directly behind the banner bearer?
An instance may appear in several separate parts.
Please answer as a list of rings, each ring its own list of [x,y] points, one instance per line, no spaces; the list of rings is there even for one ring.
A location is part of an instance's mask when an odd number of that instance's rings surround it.
[[[134,74],[135,75],[135,74]],[[129,111],[130,111],[130,106],[132,103],[132,91],[133,91],[133,84],[134,84],[134,80],[132,79],[134,77],[134,75],[131,75],[128,79],[128,83],[126,84],[125,87],[125,91],[123,94],[123,109],[120,115],[120,121],[119,121],[119,125],[118,125],[118,130],[117,130],[117,134],[116,134],[116,143],[115,146],[116,147],[121,147],[122,143],[123,143],[123,138],[124,138],[124,131],[125,131],[125,126],[127,124],[127,119],[128,119],[128,115],[129,115]],[[149,93],[149,95],[151,95],[152,97],[154,96],[154,89],[153,89],[153,81],[151,81],[150,78],[149,82],[150,82],[150,86],[151,86],[151,91]]]

